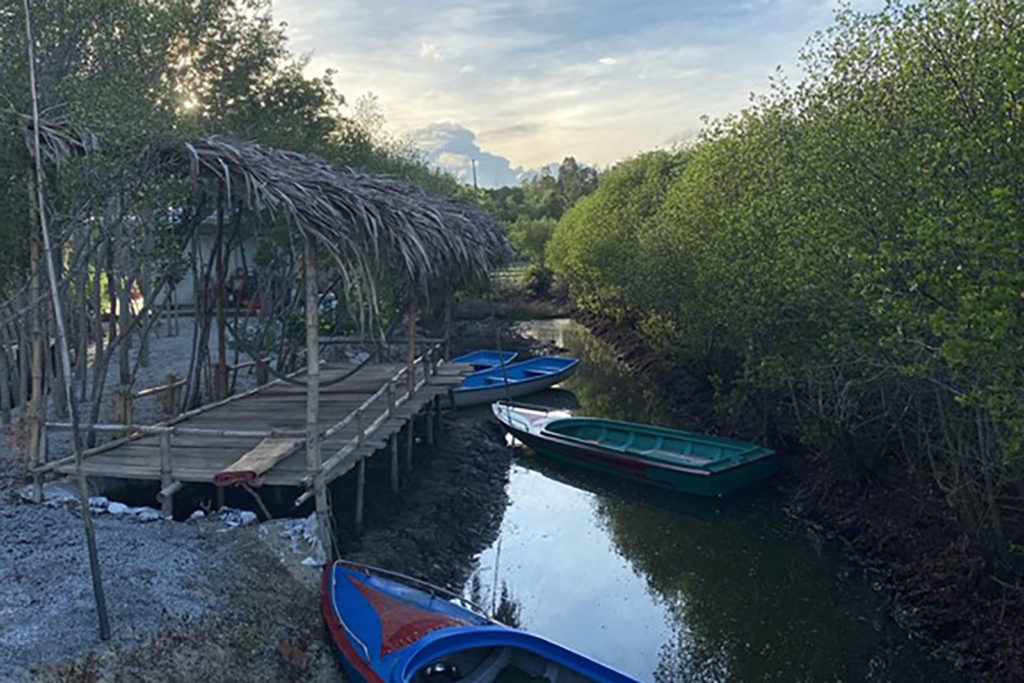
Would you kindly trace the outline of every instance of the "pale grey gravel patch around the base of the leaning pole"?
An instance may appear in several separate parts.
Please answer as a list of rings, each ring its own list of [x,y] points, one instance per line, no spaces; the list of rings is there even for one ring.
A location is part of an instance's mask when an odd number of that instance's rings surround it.
[[[208,573],[225,558],[212,524],[94,521],[114,643],[217,607]],[[0,679],[98,646],[77,506],[0,503]]]

